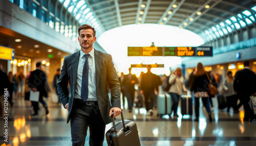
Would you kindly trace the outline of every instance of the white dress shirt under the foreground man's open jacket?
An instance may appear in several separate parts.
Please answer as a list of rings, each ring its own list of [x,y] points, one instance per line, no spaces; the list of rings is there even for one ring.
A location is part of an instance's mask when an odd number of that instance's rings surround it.
[[[86,57],[84,57],[86,53],[80,50],[80,57],[77,68],[77,79],[76,79],[76,88],[75,88],[75,99],[81,99],[81,86],[82,86],[82,70],[83,64],[86,61]],[[88,58],[89,63],[89,78],[88,78],[88,100],[87,101],[97,101],[96,96],[96,68],[95,68],[95,57],[94,57],[94,48],[89,53],[90,56]]]

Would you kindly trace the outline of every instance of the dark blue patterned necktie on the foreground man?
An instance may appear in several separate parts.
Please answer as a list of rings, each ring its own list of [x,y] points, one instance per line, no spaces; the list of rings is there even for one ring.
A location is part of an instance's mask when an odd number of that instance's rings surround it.
[[[85,102],[88,99],[88,76],[89,76],[89,58],[90,54],[85,54],[86,61],[82,69],[82,86],[81,86],[81,99]]]

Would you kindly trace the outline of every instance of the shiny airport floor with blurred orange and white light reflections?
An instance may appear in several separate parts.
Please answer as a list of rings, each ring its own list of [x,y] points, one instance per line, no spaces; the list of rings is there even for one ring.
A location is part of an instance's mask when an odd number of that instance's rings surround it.
[[[3,100],[3,99],[1,99]],[[195,118],[180,115],[157,117],[157,110],[153,116],[145,115],[145,109],[134,108],[129,113],[127,105],[124,107],[124,118],[136,122],[141,145],[256,145],[256,121],[249,123],[243,121],[244,112],[240,108],[239,114],[234,114],[233,110],[227,112],[218,110],[217,99],[214,99],[214,121],[209,122],[206,118],[206,110],[200,108],[199,122],[193,121]],[[44,108],[40,105],[39,115],[31,117],[32,109],[29,101],[24,98],[14,98],[14,106],[8,108],[8,142],[5,142],[4,117],[0,120],[0,144],[11,145],[72,145],[70,124],[66,123],[67,110],[56,103],[52,103],[51,98],[47,100],[50,114],[45,115]],[[3,104],[3,101],[2,101]],[[202,104],[201,104],[202,105]],[[180,107],[178,109],[180,114]],[[120,121],[120,117],[116,120]],[[106,126],[106,131],[112,127]],[[88,133],[89,135],[89,133]],[[86,138],[88,144],[89,136]],[[107,145],[104,141],[103,145]]]

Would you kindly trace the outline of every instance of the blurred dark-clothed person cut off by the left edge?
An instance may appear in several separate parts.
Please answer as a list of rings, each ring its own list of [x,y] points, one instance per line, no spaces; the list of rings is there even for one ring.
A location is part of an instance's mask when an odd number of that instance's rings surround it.
[[[0,99],[4,99],[4,95],[5,93],[5,89],[9,90],[10,88],[10,81],[8,80],[8,76],[7,74],[2,71],[3,69],[3,65],[0,63]],[[0,100],[0,116],[4,115],[4,109],[3,109],[3,105],[2,102]]]

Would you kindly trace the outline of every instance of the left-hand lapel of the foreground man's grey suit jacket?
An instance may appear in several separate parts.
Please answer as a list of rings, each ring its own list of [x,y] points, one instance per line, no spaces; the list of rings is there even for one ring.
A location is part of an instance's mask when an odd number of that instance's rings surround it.
[[[77,68],[80,57],[80,51],[78,51],[72,58],[72,78],[73,78],[73,91],[75,91],[76,87],[76,79],[77,79]],[[73,92],[74,93],[74,92]]]

